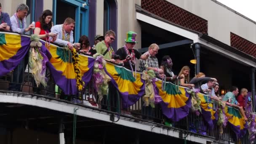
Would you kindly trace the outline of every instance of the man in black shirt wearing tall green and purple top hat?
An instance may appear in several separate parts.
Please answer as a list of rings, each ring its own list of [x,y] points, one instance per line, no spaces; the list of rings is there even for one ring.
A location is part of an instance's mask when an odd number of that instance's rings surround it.
[[[133,72],[136,72],[136,59],[147,59],[148,55],[141,55],[139,51],[134,48],[136,42],[137,33],[128,32],[127,39],[125,40],[125,45],[122,48],[119,48],[116,52],[117,55],[120,56],[120,60],[123,61],[124,67],[127,69],[131,69]]]

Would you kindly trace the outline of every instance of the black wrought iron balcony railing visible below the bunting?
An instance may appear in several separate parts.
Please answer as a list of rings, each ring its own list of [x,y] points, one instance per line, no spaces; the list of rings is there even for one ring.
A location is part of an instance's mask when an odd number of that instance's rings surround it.
[[[23,61],[24,62],[24,61]],[[27,65],[24,63],[24,65]],[[198,135],[212,136],[217,140],[227,141],[227,142],[240,142],[240,144],[248,144],[248,133],[241,139],[235,139],[235,133],[232,132],[231,128],[227,125],[223,130],[223,134],[219,135],[219,128],[215,126],[213,130],[209,130],[207,126],[204,125],[203,118],[201,116],[196,116],[194,113],[189,113],[187,117],[180,120],[179,122],[168,121],[167,118],[162,114],[160,105],[155,106],[154,109],[143,106],[143,101],[139,99],[136,104],[124,109],[122,107],[122,100],[120,99],[117,89],[109,83],[108,95],[104,96],[101,101],[98,101],[98,95],[93,87],[92,83],[89,83],[83,91],[79,91],[77,95],[64,95],[61,90],[56,87],[51,73],[47,70],[46,77],[48,78],[47,86],[39,86],[37,88],[35,81],[33,80],[32,74],[27,68],[22,72],[23,77],[22,82],[18,83],[13,81],[13,71],[9,72],[7,75],[0,77],[0,90],[8,91],[10,90],[10,85],[16,84],[20,85],[20,91],[26,93],[36,93],[43,96],[55,97],[55,99],[65,99],[67,101],[73,101],[74,103],[81,102],[82,104],[90,105],[91,107],[97,107],[99,109],[105,109],[111,112],[116,112],[117,115],[134,117],[147,122],[159,123],[161,125],[166,125],[166,127],[174,127],[183,129],[185,131],[190,131]],[[16,75],[18,77],[18,75]],[[11,90],[10,90],[11,92]],[[19,91],[18,91],[19,92]],[[78,101],[79,100],[79,101]]]

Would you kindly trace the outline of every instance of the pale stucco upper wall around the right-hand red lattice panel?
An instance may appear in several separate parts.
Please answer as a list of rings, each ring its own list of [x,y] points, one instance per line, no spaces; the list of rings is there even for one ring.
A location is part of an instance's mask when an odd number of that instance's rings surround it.
[[[230,45],[230,32],[256,43],[256,24],[212,0],[167,0],[208,21],[209,36]]]

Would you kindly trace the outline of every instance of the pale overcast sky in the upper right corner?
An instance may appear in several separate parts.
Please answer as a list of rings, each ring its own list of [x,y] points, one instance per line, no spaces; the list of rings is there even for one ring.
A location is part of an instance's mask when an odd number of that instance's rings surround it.
[[[243,14],[244,16],[256,21],[256,0],[217,0],[229,8]]]

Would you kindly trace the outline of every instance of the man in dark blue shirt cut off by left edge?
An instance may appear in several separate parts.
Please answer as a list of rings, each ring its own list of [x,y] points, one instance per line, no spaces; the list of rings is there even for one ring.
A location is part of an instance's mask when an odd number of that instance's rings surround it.
[[[8,13],[2,12],[2,5],[0,3],[0,31],[10,31],[11,21]]]

